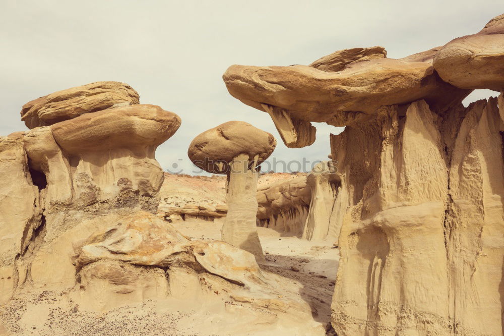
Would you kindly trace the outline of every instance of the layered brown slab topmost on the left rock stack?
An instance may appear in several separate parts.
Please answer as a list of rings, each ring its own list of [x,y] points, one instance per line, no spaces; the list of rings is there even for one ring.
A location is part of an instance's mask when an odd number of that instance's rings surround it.
[[[94,82],[27,102],[21,109],[21,120],[32,129],[73,119],[85,113],[138,103],[137,91],[128,84]]]

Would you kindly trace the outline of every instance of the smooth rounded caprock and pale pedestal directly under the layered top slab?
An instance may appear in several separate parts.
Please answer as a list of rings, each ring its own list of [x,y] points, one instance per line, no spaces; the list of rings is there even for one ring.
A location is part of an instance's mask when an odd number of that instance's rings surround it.
[[[176,114],[142,104],[85,114],[52,125],[51,130],[75,167],[75,196],[90,204],[124,188],[154,197],[163,183],[155,150],[179,126]]]

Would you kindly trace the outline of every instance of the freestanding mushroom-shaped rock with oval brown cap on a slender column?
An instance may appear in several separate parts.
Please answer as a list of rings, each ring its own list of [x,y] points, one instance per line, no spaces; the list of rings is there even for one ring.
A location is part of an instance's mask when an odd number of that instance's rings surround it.
[[[238,121],[227,122],[198,135],[187,155],[195,165],[214,174],[226,174],[228,212],[222,240],[264,260],[256,227],[258,166],[276,146],[270,133]]]

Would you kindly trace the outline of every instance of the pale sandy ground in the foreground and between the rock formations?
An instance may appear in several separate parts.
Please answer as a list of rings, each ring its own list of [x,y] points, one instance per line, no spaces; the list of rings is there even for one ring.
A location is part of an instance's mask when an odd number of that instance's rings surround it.
[[[212,240],[220,238],[222,222],[192,219],[173,225],[191,239]],[[262,268],[292,281],[289,291],[299,291],[311,307],[313,320],[329,329],[338,249],[331,242],[309,242],[268,228],[258,231],[267,259]],[[249,316],[249,312],[239,305],[223,309],[219,301],[169,297],[117,307],[104,314],[79,307],[72,293],[41,289],[24,293],[0,310],[0,335],[108,336],[139,334],[139,330],[142,335],[170,336],[296,335],[284,327],[264,331],[264,326],[256,326],[258,316]],[[268,318],[263,316],[261,321],[267,323]]]

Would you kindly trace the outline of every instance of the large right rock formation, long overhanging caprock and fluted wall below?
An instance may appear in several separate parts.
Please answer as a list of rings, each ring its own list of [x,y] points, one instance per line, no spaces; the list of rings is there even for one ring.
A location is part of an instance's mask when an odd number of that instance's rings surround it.
[[[461,103],[470,89],[503,89],[501,22],[402,60],[350,56],[338,73],[224,74],[246,104],[346,126],[331,135],[339,335],[502,334],[504,97]]]

